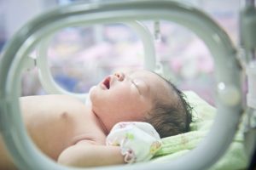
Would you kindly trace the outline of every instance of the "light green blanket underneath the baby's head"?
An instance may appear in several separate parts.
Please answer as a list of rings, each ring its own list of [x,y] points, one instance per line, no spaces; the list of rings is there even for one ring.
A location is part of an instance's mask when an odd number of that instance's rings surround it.
[[[193,150],[201,139],[207,135],[208,129],[212,125],[216,109],[193,92],[184,92],[184,94],[186,94],[189,104],[194,107],[193,122],[190,124],[191,131],[162,139],[162,148],[156,153],[151,162],[170,161],[177,158],[177,156],[182,156],[189,150]],[[210,169],[245,169],[247,167],[247,156],[243,147],[243,136],[240,130],[236,133],[236,137],[224,156]]]

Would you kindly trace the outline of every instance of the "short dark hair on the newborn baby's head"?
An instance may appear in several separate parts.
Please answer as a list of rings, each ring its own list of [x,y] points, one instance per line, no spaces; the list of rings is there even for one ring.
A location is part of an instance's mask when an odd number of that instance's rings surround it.
[[[160,75],[159,75],[160,76]],[[163,77],[161,77],[163,78]],[[185,99],[183,92],[163,78],[169,86],[172,99],[156,99],[154,107],[149,111],[145,122],[150,123],[165,138],[179,133],[189,132],[189,124],[192,122],[192,107]]]

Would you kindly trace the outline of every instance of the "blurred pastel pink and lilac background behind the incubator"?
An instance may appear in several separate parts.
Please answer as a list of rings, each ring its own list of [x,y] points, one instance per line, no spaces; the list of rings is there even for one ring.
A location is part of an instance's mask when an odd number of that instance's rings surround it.
[[[0,53],[20,27],[50,8],[71,0],[0,0]],[[100,0],[86,1],[100,3]],[[238,42],[239,0],[191,0]],[[214,105],[214,63],[205,44],[188,29],[160,20],[142,20],[148,26],[166,77],[182,90],[192,90]],[[32,57],[36,54],[32,52]],[[143,43],[137,32],[122,23],[68,27],[55,33],[47,51],[55,81],[68,91],[87,93],[91,86],[120,68],[143,68]],[[22,94],[46,94],[38,69],[24,72]]]

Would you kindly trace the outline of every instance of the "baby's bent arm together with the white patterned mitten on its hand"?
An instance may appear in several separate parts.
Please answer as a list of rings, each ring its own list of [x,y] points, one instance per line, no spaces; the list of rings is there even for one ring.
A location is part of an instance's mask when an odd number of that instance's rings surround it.
[[[159,134],[146,122],[119,122],[106,139],[107,145],[82,140],[59,156],[61,164],[91,167],[150,160],[160,150]]]

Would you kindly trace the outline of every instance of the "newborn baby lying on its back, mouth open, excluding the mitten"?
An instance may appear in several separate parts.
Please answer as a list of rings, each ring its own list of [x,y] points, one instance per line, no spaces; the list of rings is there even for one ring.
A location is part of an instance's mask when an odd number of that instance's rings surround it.
[[[119,122],[148,122],[161,138],[187,132],[191,122],[183,94],[171,82],[144,70],[106,77],[92,88],[90,105],[52,94],[22,97],[20,107],[38,149],[73,167],[124,164],[120,146],[106,145],[108,134]],[[15,169],[3,139],[0,169]]]

